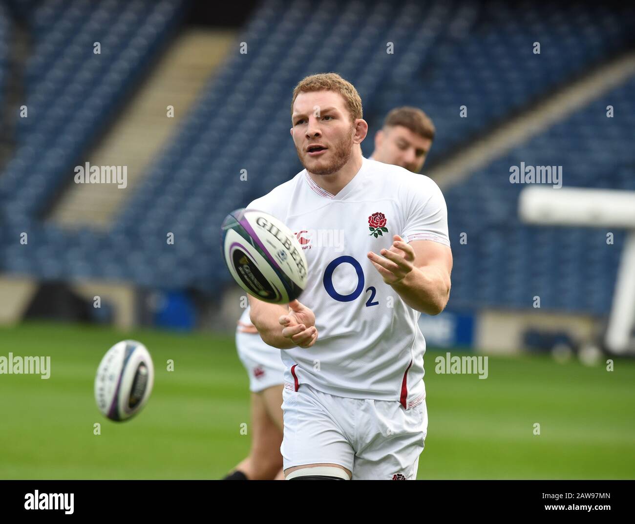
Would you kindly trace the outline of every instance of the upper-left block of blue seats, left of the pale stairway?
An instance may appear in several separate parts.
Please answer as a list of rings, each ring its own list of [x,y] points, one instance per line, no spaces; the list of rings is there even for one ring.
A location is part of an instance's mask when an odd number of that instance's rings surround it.
[[[0,177],[5,215],[24,223],[48,205],[182,7],[180,0],[54,0],[28,11],[36,36],[25,74],[28,116],[18,119],[18,147]]]

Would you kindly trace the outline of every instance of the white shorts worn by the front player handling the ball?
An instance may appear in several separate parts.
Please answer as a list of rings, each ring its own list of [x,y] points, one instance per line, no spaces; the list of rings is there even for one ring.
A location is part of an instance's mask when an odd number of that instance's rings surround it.
[[[352,480],[415,480],[428,427],[424,400],[408,410],[399,401],[345,398],[300,384],[284,387],[284,469],[338,464]]]

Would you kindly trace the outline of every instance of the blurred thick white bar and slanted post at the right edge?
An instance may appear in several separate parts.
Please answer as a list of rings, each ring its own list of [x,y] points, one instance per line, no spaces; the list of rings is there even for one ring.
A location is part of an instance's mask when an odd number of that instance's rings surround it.
[[[518,200],[518,213],[527,224],[627,229],[605,345],[612,353],[635,351],[631,337],[635,326],[635,191],[526,187]]]

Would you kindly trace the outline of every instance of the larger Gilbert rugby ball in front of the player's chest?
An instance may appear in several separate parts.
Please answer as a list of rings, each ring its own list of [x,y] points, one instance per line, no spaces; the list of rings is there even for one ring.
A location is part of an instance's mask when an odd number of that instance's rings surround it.
[[[229,272],[247,293],[273,304],[297,299],[307,283],[307,259],[295,235],[269,213],[237,209],[222,225]]]

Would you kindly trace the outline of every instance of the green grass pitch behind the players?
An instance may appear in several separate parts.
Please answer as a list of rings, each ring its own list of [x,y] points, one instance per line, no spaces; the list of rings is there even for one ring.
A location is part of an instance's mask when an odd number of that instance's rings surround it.
[[[156,375],[144,410],[116,423],[98,412],[93,380],[122,339],[144,342]],[[213,479],[248,453],[248,378],[233,337],[27,323],[0,329],[0,356],[10,352],[51,356],[51,377],[0,375],[0,478]],[[418,478],[635,478],[634,362],[615,359],[609,372],[490,357],[483,380],[434,373],[439,354],[425,357],[429,427]]]

